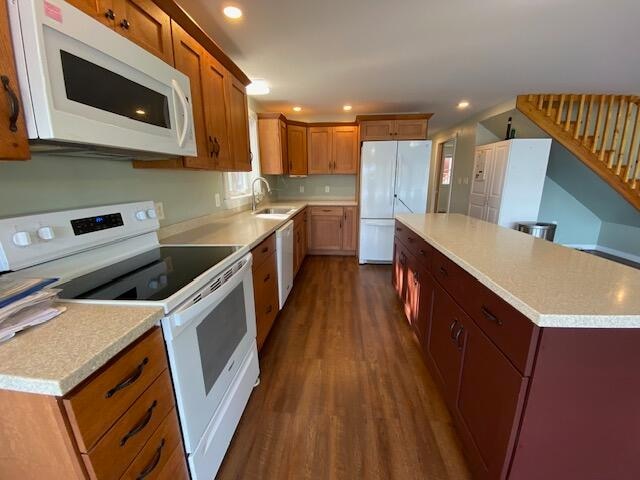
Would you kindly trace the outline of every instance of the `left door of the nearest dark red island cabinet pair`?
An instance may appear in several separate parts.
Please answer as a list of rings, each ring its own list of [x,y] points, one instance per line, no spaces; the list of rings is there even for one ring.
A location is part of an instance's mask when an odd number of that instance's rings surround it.
[[[460,385],[466,325],[470,322],[449,294],[436,285],[428,353],[452,410],[456,405]]]

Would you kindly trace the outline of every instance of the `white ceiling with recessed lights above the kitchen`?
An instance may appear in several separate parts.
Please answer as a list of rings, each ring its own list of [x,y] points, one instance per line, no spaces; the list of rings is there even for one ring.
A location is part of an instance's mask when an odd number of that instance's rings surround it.
[[[237,22],[177,1],[293,119],[434,112],[439,129],[520,93],[640,86],[640,0],[238,0]]]

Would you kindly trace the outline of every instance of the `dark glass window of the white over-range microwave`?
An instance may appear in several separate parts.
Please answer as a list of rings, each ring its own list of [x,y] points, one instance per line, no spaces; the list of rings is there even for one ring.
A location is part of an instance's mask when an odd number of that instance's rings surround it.
[[[139,122],[171,128],[169,99],[106,68],[60,50],[67,98]]]

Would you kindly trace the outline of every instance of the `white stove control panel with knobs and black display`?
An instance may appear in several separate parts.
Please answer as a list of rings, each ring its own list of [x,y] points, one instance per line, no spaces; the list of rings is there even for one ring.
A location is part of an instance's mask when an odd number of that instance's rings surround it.
[[[149,201],[2,218],[0,272],[155,232],[156,217]]]

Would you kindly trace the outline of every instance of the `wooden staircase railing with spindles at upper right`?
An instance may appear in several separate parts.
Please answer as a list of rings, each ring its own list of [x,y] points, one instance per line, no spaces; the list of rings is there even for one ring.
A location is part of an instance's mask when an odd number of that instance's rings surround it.
[[[640,209],[640,96],[532,94],[517,105]]]

